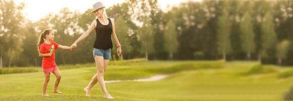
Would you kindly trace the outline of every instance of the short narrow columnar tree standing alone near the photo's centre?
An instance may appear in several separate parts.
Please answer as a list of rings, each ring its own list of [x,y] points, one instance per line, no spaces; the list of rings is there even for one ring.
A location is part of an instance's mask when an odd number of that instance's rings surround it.
[[[173,53],[177,52],[178,40],[175,24],[170,19],[165,27],[164,32],[164,49],[169,53],[169,58],[173,59]]]

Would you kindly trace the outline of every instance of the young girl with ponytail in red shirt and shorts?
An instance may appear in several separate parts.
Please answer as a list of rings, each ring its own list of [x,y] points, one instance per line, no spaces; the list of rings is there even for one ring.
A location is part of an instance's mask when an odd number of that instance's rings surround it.
[[[46,29],[40,35],[39,42],[37,44],[39,56],[43,57],[42,68],[43,68],[44,77],[45,77],[43,82],[42,96],[49,96],[46,93],[46,88],[47,88],[48,81],[50,80],[50,73],[53,73],[56,76],[53,92],[62,94],[62,92],[57,89],[59,82],[61,80],[61,74],[55,63],[55,50],[57,48],[69,49],[69,46],[63,46],[54,42],[53,41],[54,37],[55,36],[54,36],[53,29]]]

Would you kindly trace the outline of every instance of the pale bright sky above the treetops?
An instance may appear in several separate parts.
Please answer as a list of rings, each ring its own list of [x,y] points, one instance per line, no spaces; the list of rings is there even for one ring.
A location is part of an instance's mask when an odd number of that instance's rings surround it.
[[[109,2],[110,1],[110,2]],[[161,6],[163,11],[168,11],[167,6],[178,6],[180,2],[188,2],[188,1],[202,1],[202,0],[158,0],[159,6]],[[25,4],[24,8],[24,16],[35,22],[49,13],[58,13],[62,8],[69,8],[70,11],[79,11],[83,13],[89,8],[92,8],[92,5],[96,2],[102,2],[106,9],[115,5],[121,4],[125,2],[125,0],[14,0],[14,2],[18,5],[22,2]]]

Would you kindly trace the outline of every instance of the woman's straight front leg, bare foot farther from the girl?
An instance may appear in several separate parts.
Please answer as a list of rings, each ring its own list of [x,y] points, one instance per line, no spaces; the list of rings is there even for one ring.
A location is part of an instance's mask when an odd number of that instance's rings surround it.
[[[104,82],[104,57],[95,56],[94,57],[95,65],[97,68],[97,81],[99,82],[101,89],[104,92],[106,98],[113,98],[107,91],[105,82]]]

